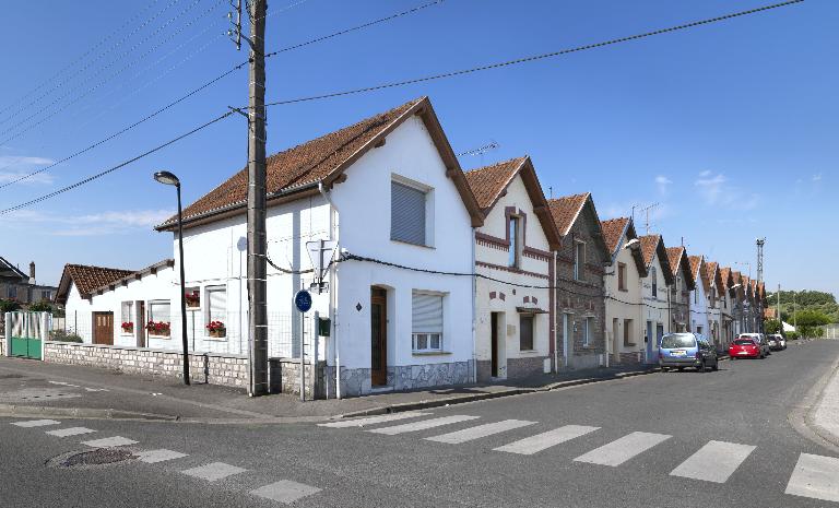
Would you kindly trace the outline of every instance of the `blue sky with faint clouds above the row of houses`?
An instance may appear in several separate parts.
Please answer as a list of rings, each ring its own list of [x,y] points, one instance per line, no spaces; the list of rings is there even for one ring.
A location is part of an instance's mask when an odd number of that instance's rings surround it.
[[[272,0],[267,48],[293,46],[429,0]],[[267,98],[420,78],[624,37],[770,0],[445,0],[271,57]],[[17,2],[0,32],[0,185],[60,161],[247,59],[224,35],[226,0]],[[269,110],[275,153],[415,97],[430,97],[464,169],[529,154],[546,194],[592,192],[601,220],[657,204],[669,246],[756,275],[768,288],[839,294],[839,2],[749,16],[558,58]],[[247,69],[130,131],[0,188],[13,206],[110,168],[247,104]],[[177,174],[192,202],[247,160],[233,115],[125,167],[0,215],[0,256],[56,284],[66,263],[140,269],[173,257],[153,225]],[[636,213],[639,232],[646,213]]]

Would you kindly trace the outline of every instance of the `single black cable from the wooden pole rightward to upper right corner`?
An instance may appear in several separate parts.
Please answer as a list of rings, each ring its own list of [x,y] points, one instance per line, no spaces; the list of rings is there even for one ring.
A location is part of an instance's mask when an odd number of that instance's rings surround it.
[[[671,32],[683,31],[683,29],[693,28],[693,27],[700,26],[700,25],[718,23],[720,21],[726,21],[726,20],[731,20],[731,19],[734,19],[734,17],[745,16],[745,15],[749,15],[749,14],[756,14],[756,13],[768,11],[768,10],[771,10],[771,9],[778,9],[778,8],[781,8],[781,7],[792,5],[794,3],[802,3],[802,2],[804,2],[804,0],[790,0],[790,1],[787,1],[787,2],[773,3],[771,5],[765,5],[765,7],[760,7],[760,8],[756,8],[756,9],[749,9],[747,11],[740,11],[740,12],[734,12],[734,13],[731,13],[731,14],[725,14],[725,15],[721,15],[721,16],[717,16],[717,17],[709,17],[707,20],[700,20],[700,21],[695,21],[695,22],[692,22],[692,23],[685,23],[685,24],[682,24],[682,25],[671,26],[669,28],[661,28],[661,29],[657,29],[657,31],[652,31],[652,32],[646,32],[646,33],[642,33],[642,34],[630,35],[630,36],[627,36],[627,37],[619,37],[619,38],[615,38],[615,39],[604,40],[602,43],[587,44],[587,45],[583,45],[583,46],[577,46],[577,47],[568,48],[568,49],[560,49],[560,50],[557,50],[557,51],[545,52],[545,54],[542,54],[542,55],[533,55],[533,56],[530,56],[530,57],[522,57],[522,58],[517,58],[515,60],[507,60],[507,61],[503,61],[503,62],[491,63],[491,64],[487,64],[487,66],[473,67],[471,69],[462,69],[462,70],[459,70],[459,71],[445,72],[445,73],[441,73],[441,74],[433,74],[433,75],[426,75],[426,76],[423,76],[423,78],[415,78],[415,79],[411,79],[411,80],[394,81],[394,82],[391,82],[391,83],[385,83],[385,84],[373,85],[373,86],[365,86],[363,88],[345,90],[343,92],[332,92],[332,93],[328,93],[328,94],[311,95],[311,96],[308,96],[308,97],[298,97],[298,98],[292,98],[292,99],[286,99],[286,101],[276,101],[276,102],[273,102],[273,103],[267,103],[265,106],[284,106],[284,105],[288,105],[288,104],[307,103],[307,102],[311,102],[311,101],[321,101],[321,99],[326,99],[326,98],[342,97],[342,96],[345,96],[345,95],[355,95],[355,94],[362,94],[362,93],[367,93],[367,92],[376,92],[376,91],[379,91],[379,90],[394,88],[394,87],[398,87],[398,86],[406,86],[406,85],[416,84],[416,83],[424,83],[424,82],[427,82],[427,81],[436,81],[436,80],[442,80],[442,79],[447,79],[447,78],[456,78],[456,76],[459,76],[459,75],[471,74],[471,73],[474,73],[474,72],[488,71],[488,70],[492,70],[492,69],[500,69],[500,68],[504,68],[504,67],[517,66],[517,64],[520,64],[520,63],[528,63],[528,62],[532,62],[532,61],[537,61],[537,60],[544,60],[544,59],[548,59],[548,58],[560,57],[560,56],[569,55],[569,54],[572,54],[572,52],[580,52],[580,51],[586,51],[586,50],[589,50],[589,49],[602,48],[604,46],[612,46],[612,45],[622,44],[622,43],[629,43],[629,42],[642,39],[642,38],[646,38],[646,37],[652,37],[654,35],[663,35],[663,34],[667,34],[667,33],[671,33]]]

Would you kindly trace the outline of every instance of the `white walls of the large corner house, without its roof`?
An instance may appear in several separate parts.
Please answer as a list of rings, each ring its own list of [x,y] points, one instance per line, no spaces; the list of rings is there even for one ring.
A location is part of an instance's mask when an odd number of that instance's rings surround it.
[[[269,208],[268,256],[288,271],[311,268],[306,243],[335,239],[351,255],[403,267],[440,272],[471,273],[473,229],[470,214],[423,120],[413,116],[345,169],[346,181],[327,196],[312,196]],[[411,186],[426,196],[426,244],[391,240],[391,186]],[[324,191],[326,192],[326,191]],[[331,203],[330,203],[331,201]],[[208,288],[226,291],[226,336],[211,344],[214,351],[247,353],[247,262],[244,214],[185,231],[187,286],[201,294],[202,321]],[[177,251],[177,241],[174,244]],[[177,269],[177,267],[176,267]],[[330,376],[340,367],[340,395],[374,389],[371,352],[371,292],[382,290],[386,305],[387,381],[382,389],[466,382],[474,379],[472,277],[441,275],[347,260],[328,274],[330,292],[314,294],[307,316],[318,311],[331,319],[329,338],[317,353]],[[289,274],[269,265],[269,355],[299,357],[300,316],[293,304],[297,290],[309,287],[312,274]],[[414,294],[439,296],[442,330],[439,347],[414,347]],[[378,307],[380,308],[380,307]],[[175,326],[173,327],[175,328]],[[199,329],[198,327],[196,328]],[[306,324],[306,354],[310,361],[314,335]],[[331,381],[330,381],[331,382]],[[330,393],[333,395],[334,393]]]

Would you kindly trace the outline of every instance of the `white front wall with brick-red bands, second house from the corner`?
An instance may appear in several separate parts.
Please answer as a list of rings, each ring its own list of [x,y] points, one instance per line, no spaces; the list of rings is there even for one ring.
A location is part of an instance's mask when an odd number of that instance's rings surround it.
[[[508,232],[513,218],[518,240],[511,240]],[[547,287],[552,263],[547,236],[521,174],[517,174],[476,234],[475,272],[494,279],[476,279],[475,355],[480,380],[551,371],[553,309]]]

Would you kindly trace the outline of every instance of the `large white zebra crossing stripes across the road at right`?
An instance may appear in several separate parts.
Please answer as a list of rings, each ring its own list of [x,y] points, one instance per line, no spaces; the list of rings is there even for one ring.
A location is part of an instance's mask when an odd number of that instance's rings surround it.
[[[433,417],[426,418],[427,416]],[[521,432],[522,429],[537,426],[537,422],[520,420],[504,420],[475,425],[474,421],[478,418],[480,416],[465,414],[434,416],[430,413],[413,412],[358,420],[342,420],[320,424],[320,426],[327,429],[375,426],[375,428],[364,428],[364,430],[382,436],[399,436],[422,430],[433,430],[442,426],[468,425],[465,428],[458,428],[446,434],[421,437],[426,441],[447,445],[462,445],[494,436],[497,439],[498,436],[503,436],[505,433]],[[601,427],[564,425],[512,440],[506,445],[493,448],[493,451],[534,456],[598,432],[602,432]],[[572,459],[572,462],[618,468],[657,447],[666,448],[666,441],[673,437],[667,434],[631,432],[587,451]],[[675,450],[682,449],[680,446],[674,446],[673,448]],[[700,482],[724,484],[737,470],[743,468],[743,464],[748,461],[756,448],[753,445],[711,440],[687,457],[670,472],[670,475]],[[785,494],[839,503],[839,458],[801,453],[797,464],[791,473]]]

